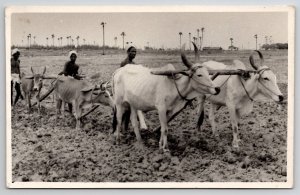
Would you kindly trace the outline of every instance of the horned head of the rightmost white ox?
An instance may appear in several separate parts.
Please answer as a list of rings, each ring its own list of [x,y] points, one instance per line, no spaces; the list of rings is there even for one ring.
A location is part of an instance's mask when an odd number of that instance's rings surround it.
[[[260,64],[257,66],[253,59],[253,53],[249,57],[251,66],[257,70],[255,78],[258,81],[258,90],[260,95],[265,98],[271,98],[276,102],[283,101],[283,95],[278,88],[276,75],[267,66],[263,65],[264,58],[260,51],[255,50],[260,58]]]

